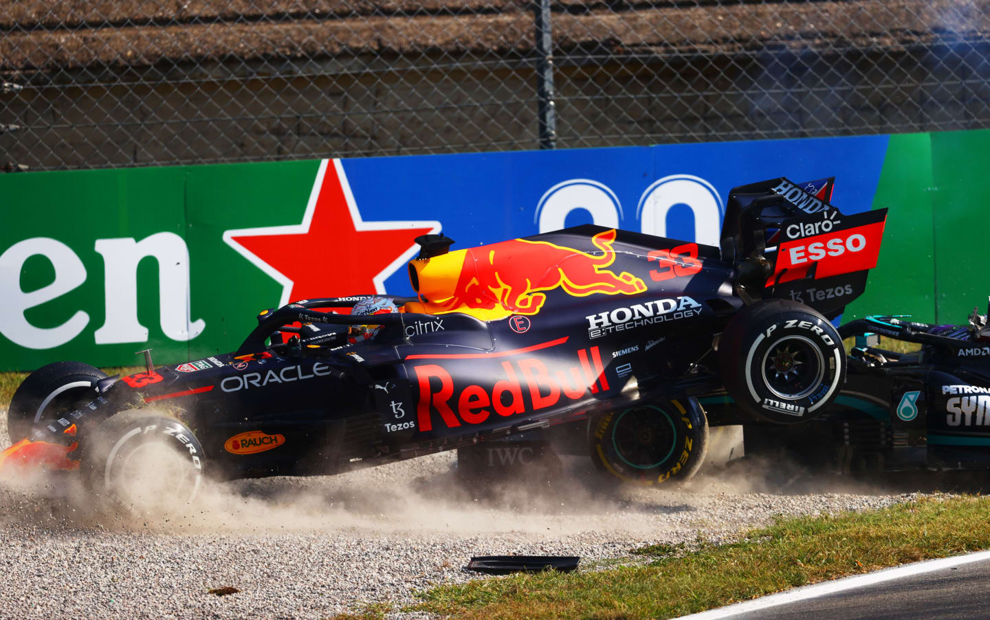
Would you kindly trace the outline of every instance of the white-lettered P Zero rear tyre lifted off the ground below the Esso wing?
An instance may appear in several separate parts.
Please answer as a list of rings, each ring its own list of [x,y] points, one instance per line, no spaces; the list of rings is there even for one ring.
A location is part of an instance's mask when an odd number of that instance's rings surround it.
[[[726,391],[753,417],[777,424],[815,419],[845,381],[841,337],[822,314],[790,300],[764,300],[726,326],[719,343]]]

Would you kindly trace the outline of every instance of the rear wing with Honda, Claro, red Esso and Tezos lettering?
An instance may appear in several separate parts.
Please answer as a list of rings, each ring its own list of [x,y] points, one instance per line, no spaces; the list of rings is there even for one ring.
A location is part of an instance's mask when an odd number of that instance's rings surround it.
[[[835,318],[862,295],[887,210],[843,215],[829,203],[834,183],[779,178],[730,192],[722,252],[743,299],[794,300]]]

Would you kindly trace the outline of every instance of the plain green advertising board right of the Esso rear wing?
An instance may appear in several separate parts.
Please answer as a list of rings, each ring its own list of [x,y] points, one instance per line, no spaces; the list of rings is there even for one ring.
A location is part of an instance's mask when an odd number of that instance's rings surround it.
[[[891,135],[873,208],[889,208],[880,259],[845,318],[903,313],[961,323],[987,311],[990,132]]]

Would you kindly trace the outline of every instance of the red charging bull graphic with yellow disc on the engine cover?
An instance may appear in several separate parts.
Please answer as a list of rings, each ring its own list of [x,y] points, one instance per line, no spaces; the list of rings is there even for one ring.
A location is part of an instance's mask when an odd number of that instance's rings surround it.
[[[413,286],[424,311],[464,312],[482,320],[536,314],[545,291],[557,288],[575,297],[643,293],[643,280],[607,269],[615,262],[615,240],[614,229],[594,235],[600,255],[527,239],[457,250],[410,263]]]

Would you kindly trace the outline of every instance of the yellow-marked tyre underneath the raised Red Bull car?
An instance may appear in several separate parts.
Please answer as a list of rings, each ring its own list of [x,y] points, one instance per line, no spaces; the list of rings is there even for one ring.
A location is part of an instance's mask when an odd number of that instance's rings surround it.
[[[591,459],[624,483],[670,485],[694,476],[708,450],[708,420],[696,399],[662,399],[593,419]]]

